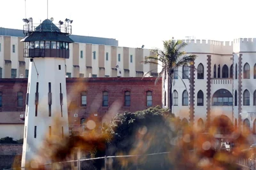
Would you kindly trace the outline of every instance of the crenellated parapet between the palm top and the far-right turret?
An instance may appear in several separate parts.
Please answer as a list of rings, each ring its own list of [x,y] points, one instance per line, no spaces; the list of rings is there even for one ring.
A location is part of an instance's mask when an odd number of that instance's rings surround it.
[[[188,44],[184,49],[188,53],[225,55],[233,52],[232,41],[214,41],[205,39],[183,39],[182,41]]]

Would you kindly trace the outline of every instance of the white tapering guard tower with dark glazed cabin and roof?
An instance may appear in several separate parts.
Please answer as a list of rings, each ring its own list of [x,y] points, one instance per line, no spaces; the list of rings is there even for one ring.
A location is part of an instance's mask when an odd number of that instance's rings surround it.
[[[29,58],[28,92],[24,124],[22,167],[35,159],[45,137],[68,135],[65,59],[69,58],[72,21],[53,24],[46,19],[37,27],[33,19],[23,19],[24,57]],[[56,26],[58,25],[58,26]],[[56,126],[54,120],[63,122]]]

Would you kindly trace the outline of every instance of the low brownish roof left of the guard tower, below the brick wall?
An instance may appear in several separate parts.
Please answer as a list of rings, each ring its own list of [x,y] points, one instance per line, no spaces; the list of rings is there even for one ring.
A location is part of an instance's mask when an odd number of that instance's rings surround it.
[[[20,115],[24,115],[25,111],[3,111],[0,113],[0,124],[24,124],[24,121],[20,120]]]

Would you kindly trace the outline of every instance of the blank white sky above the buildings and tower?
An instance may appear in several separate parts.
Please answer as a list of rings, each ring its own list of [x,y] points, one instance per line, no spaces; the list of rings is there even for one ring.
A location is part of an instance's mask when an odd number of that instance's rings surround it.
[[[0,27],[47,18],[47,0],[0,0]],[[163,40],[256,38],[255,0],[48,0],[54,23],[69,18],[72,34],[115,38],[119,46],[162,48]]]

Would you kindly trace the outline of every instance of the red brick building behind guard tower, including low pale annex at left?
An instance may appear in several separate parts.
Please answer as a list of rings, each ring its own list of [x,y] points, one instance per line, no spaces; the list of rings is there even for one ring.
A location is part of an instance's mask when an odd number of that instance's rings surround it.
[[[161,80],[156,78],[67,78],[67,102],[70,125],[80,125],[90,115],[112,118],[124,111],[161,106]],[[28,79],[0,81],[0,138],[23,138]],[[54,92],[52,92],[54,95]],[[29,94],[33,95],[33,94]]]

